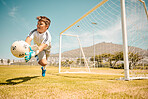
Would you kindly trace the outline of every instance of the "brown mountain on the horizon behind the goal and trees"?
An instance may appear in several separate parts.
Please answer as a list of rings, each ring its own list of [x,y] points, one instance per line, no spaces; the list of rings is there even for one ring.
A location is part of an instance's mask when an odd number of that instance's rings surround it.
[[[83,51],[86,57],[91,57],[94,55],[94,46],[83,47]],[[95,55],[100,55],[104,53],[111,53],[114,54],[115,52],[123,51],[123,46],[120,44],[113,44],[113,43],[98,43],[95,44]],[[138,48],[129,46],[128,52],[139,53],[140,55],[148,56],[148,51]],[[52,54],[51,57],[58,57],[59,54]],[[79,57],[80,56],[80,49],[74,49],[70,51],[66,51],[62,53],[62,57]]]

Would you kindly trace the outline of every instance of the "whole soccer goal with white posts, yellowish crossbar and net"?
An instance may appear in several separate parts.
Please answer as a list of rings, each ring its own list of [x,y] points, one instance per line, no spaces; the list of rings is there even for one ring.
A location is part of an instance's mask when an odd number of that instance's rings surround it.
[[[89,73],[121,74],[125,80],[148,79],[147,38],[144,1],[100,0],[60,33],[59,73],[85,67]]]

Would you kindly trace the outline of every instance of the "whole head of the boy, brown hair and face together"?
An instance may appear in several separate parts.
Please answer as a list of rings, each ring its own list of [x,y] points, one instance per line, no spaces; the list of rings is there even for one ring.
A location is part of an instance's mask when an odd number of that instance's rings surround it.
[[[45,16],[38,16],[37,17],[38,24],[37,24],[37,31],[39,33],[45,32],[50,26],[50,19]]]

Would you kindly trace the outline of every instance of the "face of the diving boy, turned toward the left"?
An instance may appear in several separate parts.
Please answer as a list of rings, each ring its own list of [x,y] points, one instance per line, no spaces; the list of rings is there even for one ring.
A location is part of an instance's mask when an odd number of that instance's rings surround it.
[[[38,21],[37,31],[39,33],[44,33],[47,29],[48,29],[48,26],[45,24],[44,21]]]

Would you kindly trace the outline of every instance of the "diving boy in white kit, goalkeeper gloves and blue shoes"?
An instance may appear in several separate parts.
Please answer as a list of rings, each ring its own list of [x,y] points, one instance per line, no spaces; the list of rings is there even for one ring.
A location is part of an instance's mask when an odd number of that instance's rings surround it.
[[[38,50],[33,51],[30,48],[30,52],[25,53],[25,61],[28,62],[32,57],[36,57],[38,63],[42,66],[42,76],[45,76],[47,65],[47,59],[50,55],[50,48],[51,48],[51,35],[47,30],[50,26],[50,19],[45,16],[38,16],[37,17],[38,24],[37,29],[34,29],[30,32],[28,37],[26,38],[25,42],[31,45],[31,41],[34,41],[34,45],[38,46]]]

